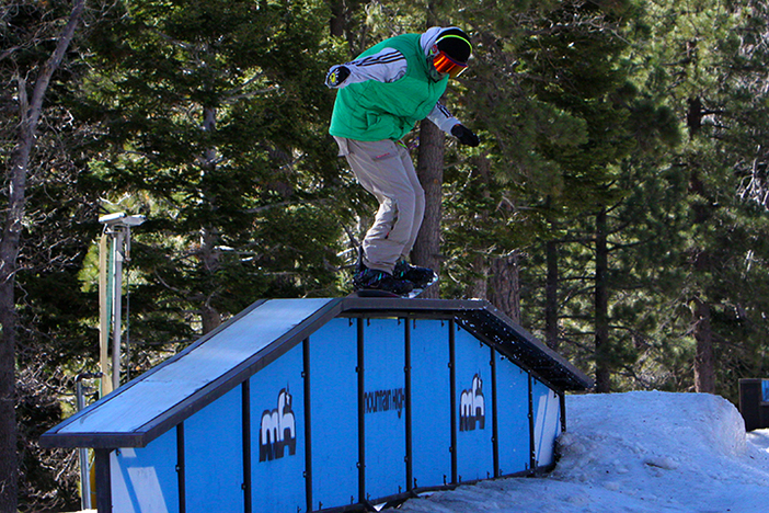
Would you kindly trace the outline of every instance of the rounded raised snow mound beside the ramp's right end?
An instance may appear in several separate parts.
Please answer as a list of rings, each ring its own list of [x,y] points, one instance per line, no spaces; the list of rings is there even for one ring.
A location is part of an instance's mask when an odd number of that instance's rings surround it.
[[[640,471],[662,477],[684,467],[712,475],[713,460],[739,458],[747,449],[742,417],[716,396],[629,392],[573,399],[566,406],[572,423],[559,438],[555,479],[597,485],[616,479],[630,486]]]

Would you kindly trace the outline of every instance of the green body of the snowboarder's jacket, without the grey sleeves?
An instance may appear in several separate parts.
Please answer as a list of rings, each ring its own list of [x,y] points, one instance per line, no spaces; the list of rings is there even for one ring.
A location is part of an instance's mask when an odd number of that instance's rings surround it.
[[[421,34],[386,39],[358,56],[395,48],[406,59],[406,73],[394,82],[352,83],[336,93],[329,133],[355,140],[399,140],[427,117],[446,91],[448,77],[436,82],[429,77]]]

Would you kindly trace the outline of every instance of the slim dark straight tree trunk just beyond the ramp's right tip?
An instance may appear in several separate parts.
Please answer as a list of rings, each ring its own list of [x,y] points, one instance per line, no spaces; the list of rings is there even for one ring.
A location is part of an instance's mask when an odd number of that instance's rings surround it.
[[[609,358],[609,250],[607,244],[607,213],[596,215],[596,391],[611,391],[611,362]]]

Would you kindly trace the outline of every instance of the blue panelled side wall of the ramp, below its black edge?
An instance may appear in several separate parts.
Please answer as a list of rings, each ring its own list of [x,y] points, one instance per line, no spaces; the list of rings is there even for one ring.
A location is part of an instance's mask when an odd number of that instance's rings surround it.
[[[527,472],[552,464],[560,408],[454,322],[337,318],[176,430],[116,451],[113,503],[294,513]]]

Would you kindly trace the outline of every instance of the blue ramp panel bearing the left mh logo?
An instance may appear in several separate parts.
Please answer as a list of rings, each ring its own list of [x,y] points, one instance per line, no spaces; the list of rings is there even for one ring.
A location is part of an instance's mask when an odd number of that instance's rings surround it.
[[[299,344],[251,378],[254,512],[307,511],[301,374]]]

